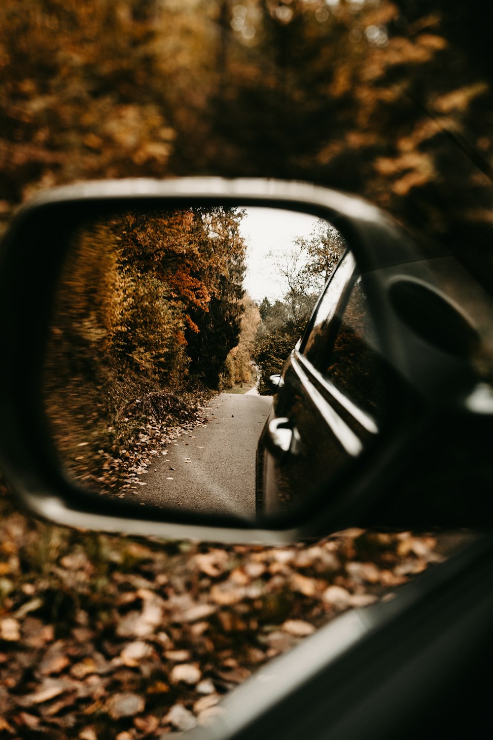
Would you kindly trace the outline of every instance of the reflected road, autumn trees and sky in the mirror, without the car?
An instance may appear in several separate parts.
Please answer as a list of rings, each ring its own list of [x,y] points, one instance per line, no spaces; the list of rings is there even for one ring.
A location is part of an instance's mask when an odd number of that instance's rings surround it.
[[[76,224],[44,359],[44,405],[79,486],[253,520],[271,374],[344,251],[312,215],[190,207]]]

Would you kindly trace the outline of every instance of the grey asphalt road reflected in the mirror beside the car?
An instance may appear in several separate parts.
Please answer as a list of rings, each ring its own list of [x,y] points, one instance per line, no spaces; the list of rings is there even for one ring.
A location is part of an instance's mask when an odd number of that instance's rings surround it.
[[[255,517],[255,452],[272,397],[221,393],[194,429],[154,458],[139,501],[209,514]]]

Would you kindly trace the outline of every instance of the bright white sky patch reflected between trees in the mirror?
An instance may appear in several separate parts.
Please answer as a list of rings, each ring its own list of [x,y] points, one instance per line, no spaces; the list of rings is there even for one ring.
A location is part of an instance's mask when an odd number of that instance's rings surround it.
[[[244,286],[254,300],[282,297],[284,290],[268,253],[288,252],[299,236],[308,236],[318,219],[306,213],[276,208],[247,208],[240,232],[248,244]]]

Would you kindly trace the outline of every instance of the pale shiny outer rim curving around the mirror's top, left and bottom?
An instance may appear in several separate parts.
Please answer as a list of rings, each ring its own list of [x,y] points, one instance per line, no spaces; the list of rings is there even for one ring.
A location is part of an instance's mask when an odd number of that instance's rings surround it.
[[[2,239],[0,246],[0,315],[6,315],[9,296],[12,293],[12,286],[8,283],[5,285],[6,280],[2,267],[6,258],[12,256],[13,252],[18,249],[17,235],[22,233],[36,215],[42,214],[46,209],[63,208],[71,204],[91,206],[91,204],[98,203],[101,206],[105,202],[124,204],[125,201],[135,202],[136,200],[143,203],[153,200],[163,200],[167,203],[186,200],[190,203],[197,201],[231,204],[241,201],[242,205],[284,207],[300,212],[310,212],[326,218],[330,223],[335,223],[341,230],[341,234],[345,238],[350,238],[350,248],[355,253],[356,261],[364,264],[364,269],[371,269],[375,260],[378,262],[375,255],[375,249],[378,252],[378,246],[383,249],[386,246],[402,247],[404,237],[404,232],[401,232],[401,229],[387,214],[367,201],[353,195],[297,181],[242,178],[236,180],[177,178],[164,181],[127,179],[62,186],[47,190],[33,198],[30,203],[21,206]],[[4,326],[0,327],[0,342],[3,342],[7,348],[10,346],[8,332],[6,333]],[[13,408],[7,392],[8,364],[4,363],[0,368],[0,408],[7,409],[7,420],[18,426],[16,409]],[[333,511],[333,508],[331,510],[330,505],[328,507],[314,506],[313,517],[307,519],[303,525],[279,529],[259,528],[258,525],[248,523],[245,523],[243,527],[242,522],[225,522],[224,519],[217,523],[214,521],[203,523],[203,515],[192,515],[185,518],[177,516],[171,519],[168,511],[163,521],[150,520],[142,509],[132,511],[132,517],[123,517],[121,502],[116,501],[111,503],[118,504],[120,513],[116,510],[111,511],[113,506],[109,505],[110,502],[104,502],[104,504],[101,502],[101,508],[109,511],[106,514],[98,514],[95,513],[94,508],[91,509],[89,506],[89,501],[95,502],[95,497],[87,496],[87,505],[78,507],[74,505],[74,498],[70,496],[70,491],[62,491],[60,482],[57,486],[55,480],[50,485],[50,480],[47,481],[46,477],[43,479],[36,475],[36,471],[33,473],[33,470],[27,470],[25,462],[21,465],[20,461],[16,461],[16,455],[9,454],[8,451],[11,445],[7,432],[8,427],[10,425],[5,423],[0,428],[0,457],[7,481],[11,482],[10,488],[14,496],[28,511],[59,525],[163,539],[203,539],[231,544],[287,545],[300,539],[327,534],[327,525],[330,531],[344,528],[344,515],[347,514],[347,508],[350,509],[354,504],[352,495],[350,498],[353,500],[342,507],[339,506],[339,511]],[[54,491],[56,491],[55,494]],[[72,488],[72,491],[75,491],[75,488]],[[331,526],[328,522],[333,522],[333,525]]]

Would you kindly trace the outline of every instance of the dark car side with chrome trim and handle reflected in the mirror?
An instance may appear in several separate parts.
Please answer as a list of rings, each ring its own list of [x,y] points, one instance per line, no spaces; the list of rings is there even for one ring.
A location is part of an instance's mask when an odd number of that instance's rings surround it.
[[[346,252],[288,358],[259,445],[257,513],[282,514],[344,468],[378,431],[384,379],[361,277]]]

